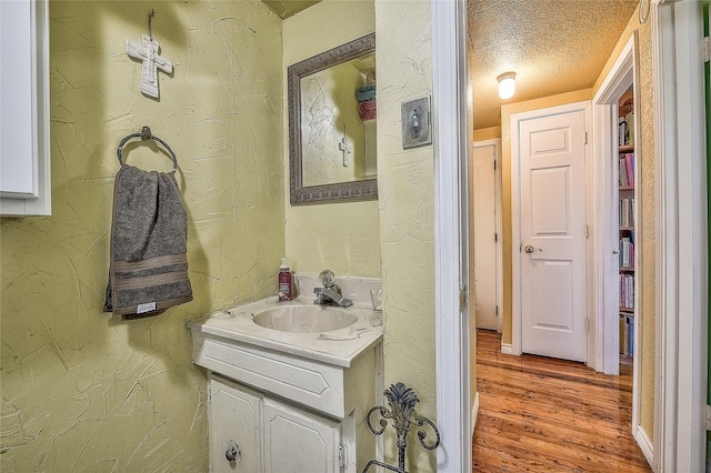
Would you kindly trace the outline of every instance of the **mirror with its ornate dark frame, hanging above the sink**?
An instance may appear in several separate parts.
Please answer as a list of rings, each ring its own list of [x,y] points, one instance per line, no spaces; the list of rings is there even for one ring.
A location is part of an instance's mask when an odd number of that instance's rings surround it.
[[[378,198],[375,34],[287,70],[292,204]]]

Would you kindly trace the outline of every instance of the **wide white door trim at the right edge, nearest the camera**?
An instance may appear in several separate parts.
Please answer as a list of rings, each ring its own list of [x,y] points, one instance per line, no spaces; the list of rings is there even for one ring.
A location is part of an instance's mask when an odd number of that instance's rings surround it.
[[[657,190],[654,466],[704,471],[708,225],[702,6],[653,0]]]

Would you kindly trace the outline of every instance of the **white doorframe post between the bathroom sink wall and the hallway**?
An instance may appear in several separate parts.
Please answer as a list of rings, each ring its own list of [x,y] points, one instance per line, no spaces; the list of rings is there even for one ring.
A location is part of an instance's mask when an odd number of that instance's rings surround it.
[[[471,338],[468,296],[467,7],[432,1],[434,293],[438,472],[472,469]],[[462,189],[463,188],[463,189]],[[464,285],[464,286],[463,286]]]

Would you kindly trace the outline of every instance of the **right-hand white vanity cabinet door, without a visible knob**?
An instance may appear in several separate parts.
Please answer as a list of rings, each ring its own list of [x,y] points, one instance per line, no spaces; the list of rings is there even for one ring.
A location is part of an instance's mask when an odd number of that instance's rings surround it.
[[[267,472],[340,472],[340,422],[264,399]]]

